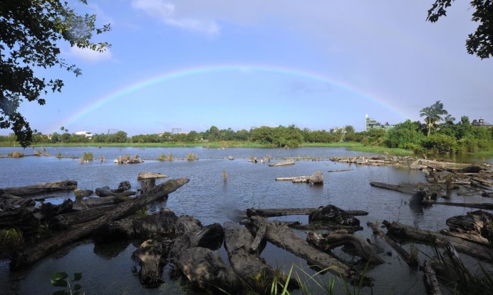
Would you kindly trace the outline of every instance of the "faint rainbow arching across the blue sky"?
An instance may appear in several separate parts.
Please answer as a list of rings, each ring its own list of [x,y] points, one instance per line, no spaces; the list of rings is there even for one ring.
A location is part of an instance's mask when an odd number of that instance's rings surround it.
[[[333,77],[328,77],[326,75],[322,75],[319,73],[313,73],[306,70],[299,70],[293,68],[285,68],[278,65],[205,65],[201,67],[195,68],[184,68],[180,70],[172,70],[167,73],[162,73],[160,75],[154,77],[148,77],[144,80],[140,80],[138,82],[133,83],[132,85],[126,85],[123,88],[115,90],[113,92],[108,93],[107,95],[103,95],[98,100],[95,100],[92,104],[84,107],[83,109],[78,110],[68,116],[66,119],[63,119],[63,122],[58,123],[57,126],[69,126],[73,122],[77,122],[78,120],[85,117],[90,112],[95,111],[95,109],[99,109],[103,107],[103,105],[108,104],[110,102],[114,102],[115,100],[120,99],[121,97],[125,97],[130,95],[133,92],[137,92],[139,90],[145,89],[146,87],[150,87],[152,85],[157,85],[162,82],[167,82],[170,80],[176,80],[184,77],[190,77],[195,75],[207,75],[211,73],[222,73],[222,72],[237,72],[237,73],[274,73],[279,75],[291,75],[295,77],[303,77],[308,80],[316,80],[320,82],[327,82],[330,85],[341,88],[342,90],[347,90],[348,92],[352,92],[355,95],[359,95],[361,97],[365,97],[366,99],[373,101],[377,104],[382,105],[383,107],[389,109],[391,112],[398,114],[400,117],[405,119],[405,115],[400,110],[391,106],[388,102],[383,99],[377,99],[373,95],[368,95],[366,93],[360,92],[356,87],[351,87],[347,82],[340,81]],[[390,100],[389,100],[390,101]],[[53,129],[58,129],[54,127]]]

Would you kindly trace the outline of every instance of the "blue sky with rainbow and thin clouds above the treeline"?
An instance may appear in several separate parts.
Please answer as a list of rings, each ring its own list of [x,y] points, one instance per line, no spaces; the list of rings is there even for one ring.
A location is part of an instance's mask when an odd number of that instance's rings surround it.
[[[422,121],[420,110],[437,100],[457,121],[493,123],[493,60],[467,54],[477,27],[468,2],[430,23],[432,0],[76,1],[79,14],[111,24],[93,39],[111,48],[61,45],[61,58],[83,74],[38,70],[65,86],[46,105],[19,110],[43,134],[291,124],[359,132],[365,114]]]

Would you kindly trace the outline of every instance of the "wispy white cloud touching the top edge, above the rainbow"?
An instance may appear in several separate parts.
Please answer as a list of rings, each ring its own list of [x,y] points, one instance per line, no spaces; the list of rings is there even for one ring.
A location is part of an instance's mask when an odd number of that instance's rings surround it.
[[[152,18],[170,26],[204,33],[207,36],[214,36],[219,33],[219,26],[216,22],[193,17],[180,17],[177,15],[175,4],[164,0],[133,0],[132,7],[140,9]]]

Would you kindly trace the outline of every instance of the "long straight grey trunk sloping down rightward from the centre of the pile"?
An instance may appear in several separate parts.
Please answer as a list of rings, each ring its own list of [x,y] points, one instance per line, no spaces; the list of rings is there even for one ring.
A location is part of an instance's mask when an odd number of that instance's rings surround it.
[[[265,234],[266,240],[287,250],[298,257],[306,259],[308,264],[316,265],[323,270],[341,276],[349,281],[353,279],[359,279],[358,274],[350,269],[346,264],[339,262],[338,259],[331,257],[331,255],[316,249],[312,245],[308,244],[305,240],[301,239],[294,232],[289,230],[288,227],[280,222],[270,221],[266,218],[259,216],[252,216],[251,222],[257,227],[261,222],[266,222],[267,230]]]

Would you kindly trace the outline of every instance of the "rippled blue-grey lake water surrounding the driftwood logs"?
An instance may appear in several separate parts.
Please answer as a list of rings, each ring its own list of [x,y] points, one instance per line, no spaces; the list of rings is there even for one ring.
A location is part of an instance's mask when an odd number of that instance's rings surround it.
[[[0,148],[0,156],[12,151],[33,154],[31,149]],[[385,252],[391,251],[379,239],[372,237],[366,222],[382,220],[399,221],[422,229],[440,230],[445,228],[445,220],[455,215],[465,215],[471,209],[454,206],[432,205],[430,208],[412,209],[408,205],[409,195],[373,188],[370,181],[385,183],[426,182],[424,173],[403,168],[380,166],[357,166],[348,163],[328,161],[330,156],[355,156],[365,153],[349,151],[344,148],[299,148],[299,149],[206,149],[190,148],[102,148],[96,147],[47,147],[43,154],[51,156],[26,156],[24,158],[0,158],[0,188],[26,186],[47,181],[74,180],[78,188],[95,190],[102,186],[117,188],[122,181],[130,181],[135,190],[140,186],[137,173],[152,171],[167,174],[170,178],[190,178],[190,183],[171,193],[169,198],[149,207],[150,212],[167,207],[177,215],[192,215],[204,225],[213,222],[229,221],[227,214],[234,209],[246,208],[313,208],[328,204],[336,205],[345,210],[365,210],[368,216],[358,217],[365,228],[358,235],[370,238],[383,247]],[[91,152],[95,161],[81,163],[84,152]],[[160,155],[172,154],[175,159],[186,158],[192,153],[199,157],[198,161],[152,161]],[[70,158],[57,159],[56,154]],[[144,163],[123,164],[113,163],[113,159],[124,155],[139,154]],[[99,157],[107,161],[99,161]],[[233,161],[227,160],[233,156]],[[284,157],[311,157],[325,159],[323,161],[296,161],[292,166],[269,167],[268,163],[251,163],[251,156],[261,159],[263,156],[274,157],[271,162],[281,161]],[[484,161],[484,159],[477,159]],[[471,159],[474,161],[474,159]],[[493,159],[487,159],[493,163]],[[351,171],[328,173],[329,170],[351,168]],[[224,181],[223,171],[227,173]],[[304,176],[314,171],[324,174],[323,186],[310,186],[306,183],[275,181],[277,177]],[[169,179],[169,178],[167,178]],[[157,181],[160,183],[160,180]],[[53,193],[58,195],[53,203],[64,198],[73,198],[73,192]],[[480,196],[453,195],[452,202],[488,202]],[[292,216],[284,220],[308,222],[306,216]],[[305,232],[299,232],[306,235]],[[82,272],[81,285],[86,294],[193,294],[180,279],[172,280],[168,276],[168,268],[163,277],[166,284],[157,289],[145,289],[133,274],[134,264],[130,255],[136,245],[118,244],[95,247],[90,240],[66,247],[29,269],[10,272],[8,262],[0,262],[0,294],[51,294],[56,291],[50,285],[53,272]],[[408,247],[408,246],[406,246]],[[427,252],[425,246],[417,245],[418,249]],[[340,252],[341,254],[342,252]],[[224,249],[218,254],[227,261]],[[341,254],[343,255],[343,254]],[[289,271],[291,264],[305,269],[306,262],[294,255],[268,245],[262,257],[274,267]],[[368,276],[375,279],[374,294],[423,294],[422,273],[410,270],[393,252],[392,256],[383,254],[385,264],[368,271]],[[330,274],[319,276],[327,281]],[[185,285],[185,286],[184,286]],[[341,287],[342,284],[338,284]],[[314,287],[313,293],[319,289]],[[363,293],[370,293],[363,289]],[[294,291],[296,294],[296,291]]]

